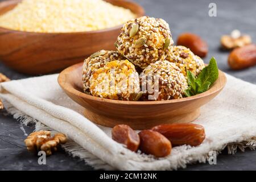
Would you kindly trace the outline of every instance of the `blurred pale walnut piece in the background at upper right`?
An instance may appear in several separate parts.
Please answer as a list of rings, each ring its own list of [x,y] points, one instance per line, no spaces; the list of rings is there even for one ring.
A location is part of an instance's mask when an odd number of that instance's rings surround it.
[[[221,46],[225,49],[234,49],[243,47],[251,43],[249,35],[241,35],[239,30],[233,30],[230,35],[223,35],[221,37]]]

